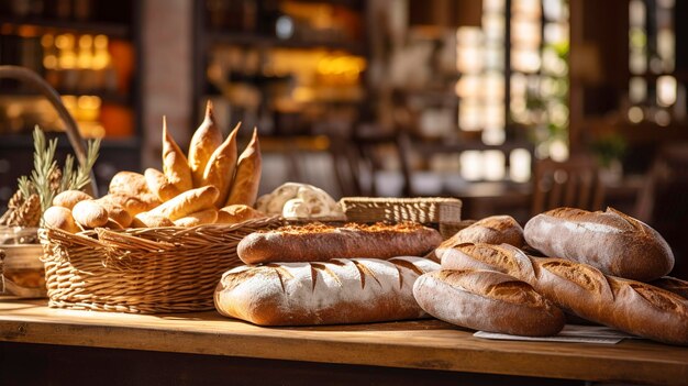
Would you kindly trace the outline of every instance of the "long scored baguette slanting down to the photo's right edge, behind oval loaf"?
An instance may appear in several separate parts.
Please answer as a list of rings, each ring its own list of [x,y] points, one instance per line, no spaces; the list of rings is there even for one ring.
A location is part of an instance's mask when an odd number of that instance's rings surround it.
[[[442,255],[445,269],[493,269],[529,283],[562,309],[640,337],[688,344],[688,301],[581,263],[532,257],[508,245],[463,244]]]

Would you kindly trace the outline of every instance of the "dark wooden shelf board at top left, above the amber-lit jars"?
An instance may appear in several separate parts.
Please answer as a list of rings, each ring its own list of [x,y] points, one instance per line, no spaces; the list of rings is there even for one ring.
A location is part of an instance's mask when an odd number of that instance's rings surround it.
[[[71,20],[47,20],[38,18],[8,18],[0,16],[0,31],[3,34],[36,35],[53,33],[79,33],[92,35],[108,35],[116,38],[131,38],[132,31],[129,24],[112,22],[82,22]]]

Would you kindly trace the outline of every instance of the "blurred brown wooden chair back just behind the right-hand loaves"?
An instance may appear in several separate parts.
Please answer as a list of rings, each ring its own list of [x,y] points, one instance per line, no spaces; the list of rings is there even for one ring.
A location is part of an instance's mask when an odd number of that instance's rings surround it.
[[[558,207],[600,210],[603,200],[604,185],[595,158],[575,155],[566,162],[535,163],[532,216]]]

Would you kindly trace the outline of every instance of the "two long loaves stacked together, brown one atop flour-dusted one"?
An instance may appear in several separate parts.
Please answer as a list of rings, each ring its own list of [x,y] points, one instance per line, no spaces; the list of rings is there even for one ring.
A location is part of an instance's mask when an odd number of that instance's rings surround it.
[[[408,256],[422,256],[441,241],[437,231],[411,223],[311,223],[252,233],[237,246],[249,265],[223,275],[215,308],[262,326],[420,318],[425,313],[413,283],[440,265]]]

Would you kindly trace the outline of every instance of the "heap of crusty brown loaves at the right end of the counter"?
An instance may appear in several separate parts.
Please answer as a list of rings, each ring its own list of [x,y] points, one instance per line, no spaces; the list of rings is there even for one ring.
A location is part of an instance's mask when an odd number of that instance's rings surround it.
[[[688,344],[688,300],[677,295],[685,296],[688,284],[662,278],[674,265],[672,251],[636,219],[613,209],[539,214],[523,236],[553,257],[530,256],[507,239],[486,242],[475,236],[477,230],[463,232],[471,236],[457,235],[436,251],[442,271],[421,276],[414,286],[421,307],[440,319],[477,330],[550,335],[563,328],[562,309],[640,337]],[[668,290],[642,283],[650,280]]]

